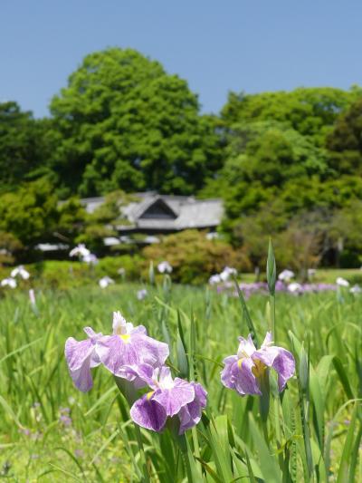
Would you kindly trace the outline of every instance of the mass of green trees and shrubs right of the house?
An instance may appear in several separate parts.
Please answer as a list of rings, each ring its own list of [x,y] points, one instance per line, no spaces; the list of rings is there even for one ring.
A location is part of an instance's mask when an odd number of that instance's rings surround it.
[[[223,196],[224,230],[259,265],[268,237],[281,266],[356,266],[362,220],[359,88],[230,94],[222,111],[226,160],[203,190]],[[349,215],[348,215],[349,214]]]

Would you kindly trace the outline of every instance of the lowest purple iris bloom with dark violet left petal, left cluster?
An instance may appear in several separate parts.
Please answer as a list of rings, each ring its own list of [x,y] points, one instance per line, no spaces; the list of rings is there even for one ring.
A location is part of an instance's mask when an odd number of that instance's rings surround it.
[[[140,364],[136,372],[152,389],[130,409],[130,416],[138,426],[159,432],[164,429],[168,417],[178,416],[179,434],[183,434],[199,422],[207,396],[201,384],[178,377],[172,379],[166,366],[153,369],[148,364]]]

